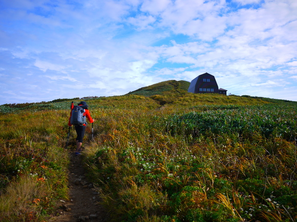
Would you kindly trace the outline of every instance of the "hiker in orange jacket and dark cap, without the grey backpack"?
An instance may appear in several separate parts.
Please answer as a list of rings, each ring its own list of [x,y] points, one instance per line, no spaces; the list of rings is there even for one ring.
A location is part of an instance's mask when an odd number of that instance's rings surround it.
[[[76,151],[75,151],[75,155],[80,155],[80,151],[81,151],[81,144],[82,144],[82,139],[83,139],[83,136],[84,136],[84,132],[86,131],[86,126],[87,126],[87,121],[86,121],[86,117],[88,118],[89,122],[92,123],[94,122],[94,119],[91,117],[91,114],[88,110],[88,106],[87,106],[87,103],[84,102],[84,101],[81,101],[78,106],[81,106],[84,110],[84,112],[82,113],[82,117],[84,118],[84,123],[82,123],[81,125],[76,125],[76,124],[73,124],[73,121],[71,119],[71,116],[72,116],[72,110],[75,108],[75,106],[73,105],[73,102],[71,104],[71,112],[70,112],[70,117],[69,117],[69,121],[68,121],[68,126],[71,127],[72,124],[74,125],[75,127],[75,131],[76,131],[76,134],[77,134],[77,137],[76,137]]]

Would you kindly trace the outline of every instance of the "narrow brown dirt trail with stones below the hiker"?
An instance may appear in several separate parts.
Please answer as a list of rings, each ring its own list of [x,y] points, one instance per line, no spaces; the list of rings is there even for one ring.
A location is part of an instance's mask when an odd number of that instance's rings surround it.
[[[59,202],[59,209],[54,213],[49,222],[105,222],[105,211],[100,206],[100,197],[87,181],[82,166],[82,157],[70,153],[69,168],[69,197],[70,201]]]

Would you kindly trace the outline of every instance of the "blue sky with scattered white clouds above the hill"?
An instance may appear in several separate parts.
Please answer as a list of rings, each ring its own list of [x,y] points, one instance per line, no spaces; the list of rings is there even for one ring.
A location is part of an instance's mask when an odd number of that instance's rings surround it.
[[[297,1],[0,1],[0,105],[204,72],[227,93],[297,101]]]

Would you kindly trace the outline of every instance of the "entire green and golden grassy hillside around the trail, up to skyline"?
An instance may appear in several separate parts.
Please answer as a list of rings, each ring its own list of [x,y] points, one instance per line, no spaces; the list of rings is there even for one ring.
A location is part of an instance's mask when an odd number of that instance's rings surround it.
[[[68,199],[81,100],[95,119],[83,162],[109,221],[297,221],[297,102],[188,84],[0,106],[1,221],[46,221]]]

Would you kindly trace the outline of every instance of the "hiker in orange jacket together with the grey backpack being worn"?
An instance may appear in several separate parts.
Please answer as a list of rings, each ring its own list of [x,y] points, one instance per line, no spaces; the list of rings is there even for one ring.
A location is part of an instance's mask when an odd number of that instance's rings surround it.
[[[80,155],[82,139],[87,126],[86,117],[88,118],[90,123],[94,122],[94,119],[91,117],[91,114],[89,112],[87,103],[81,101],[78,106],[74,106],[72,102],[68,126],[71,127],[72,125],[74,125],[77,134],[75,151],[76,156]]]

